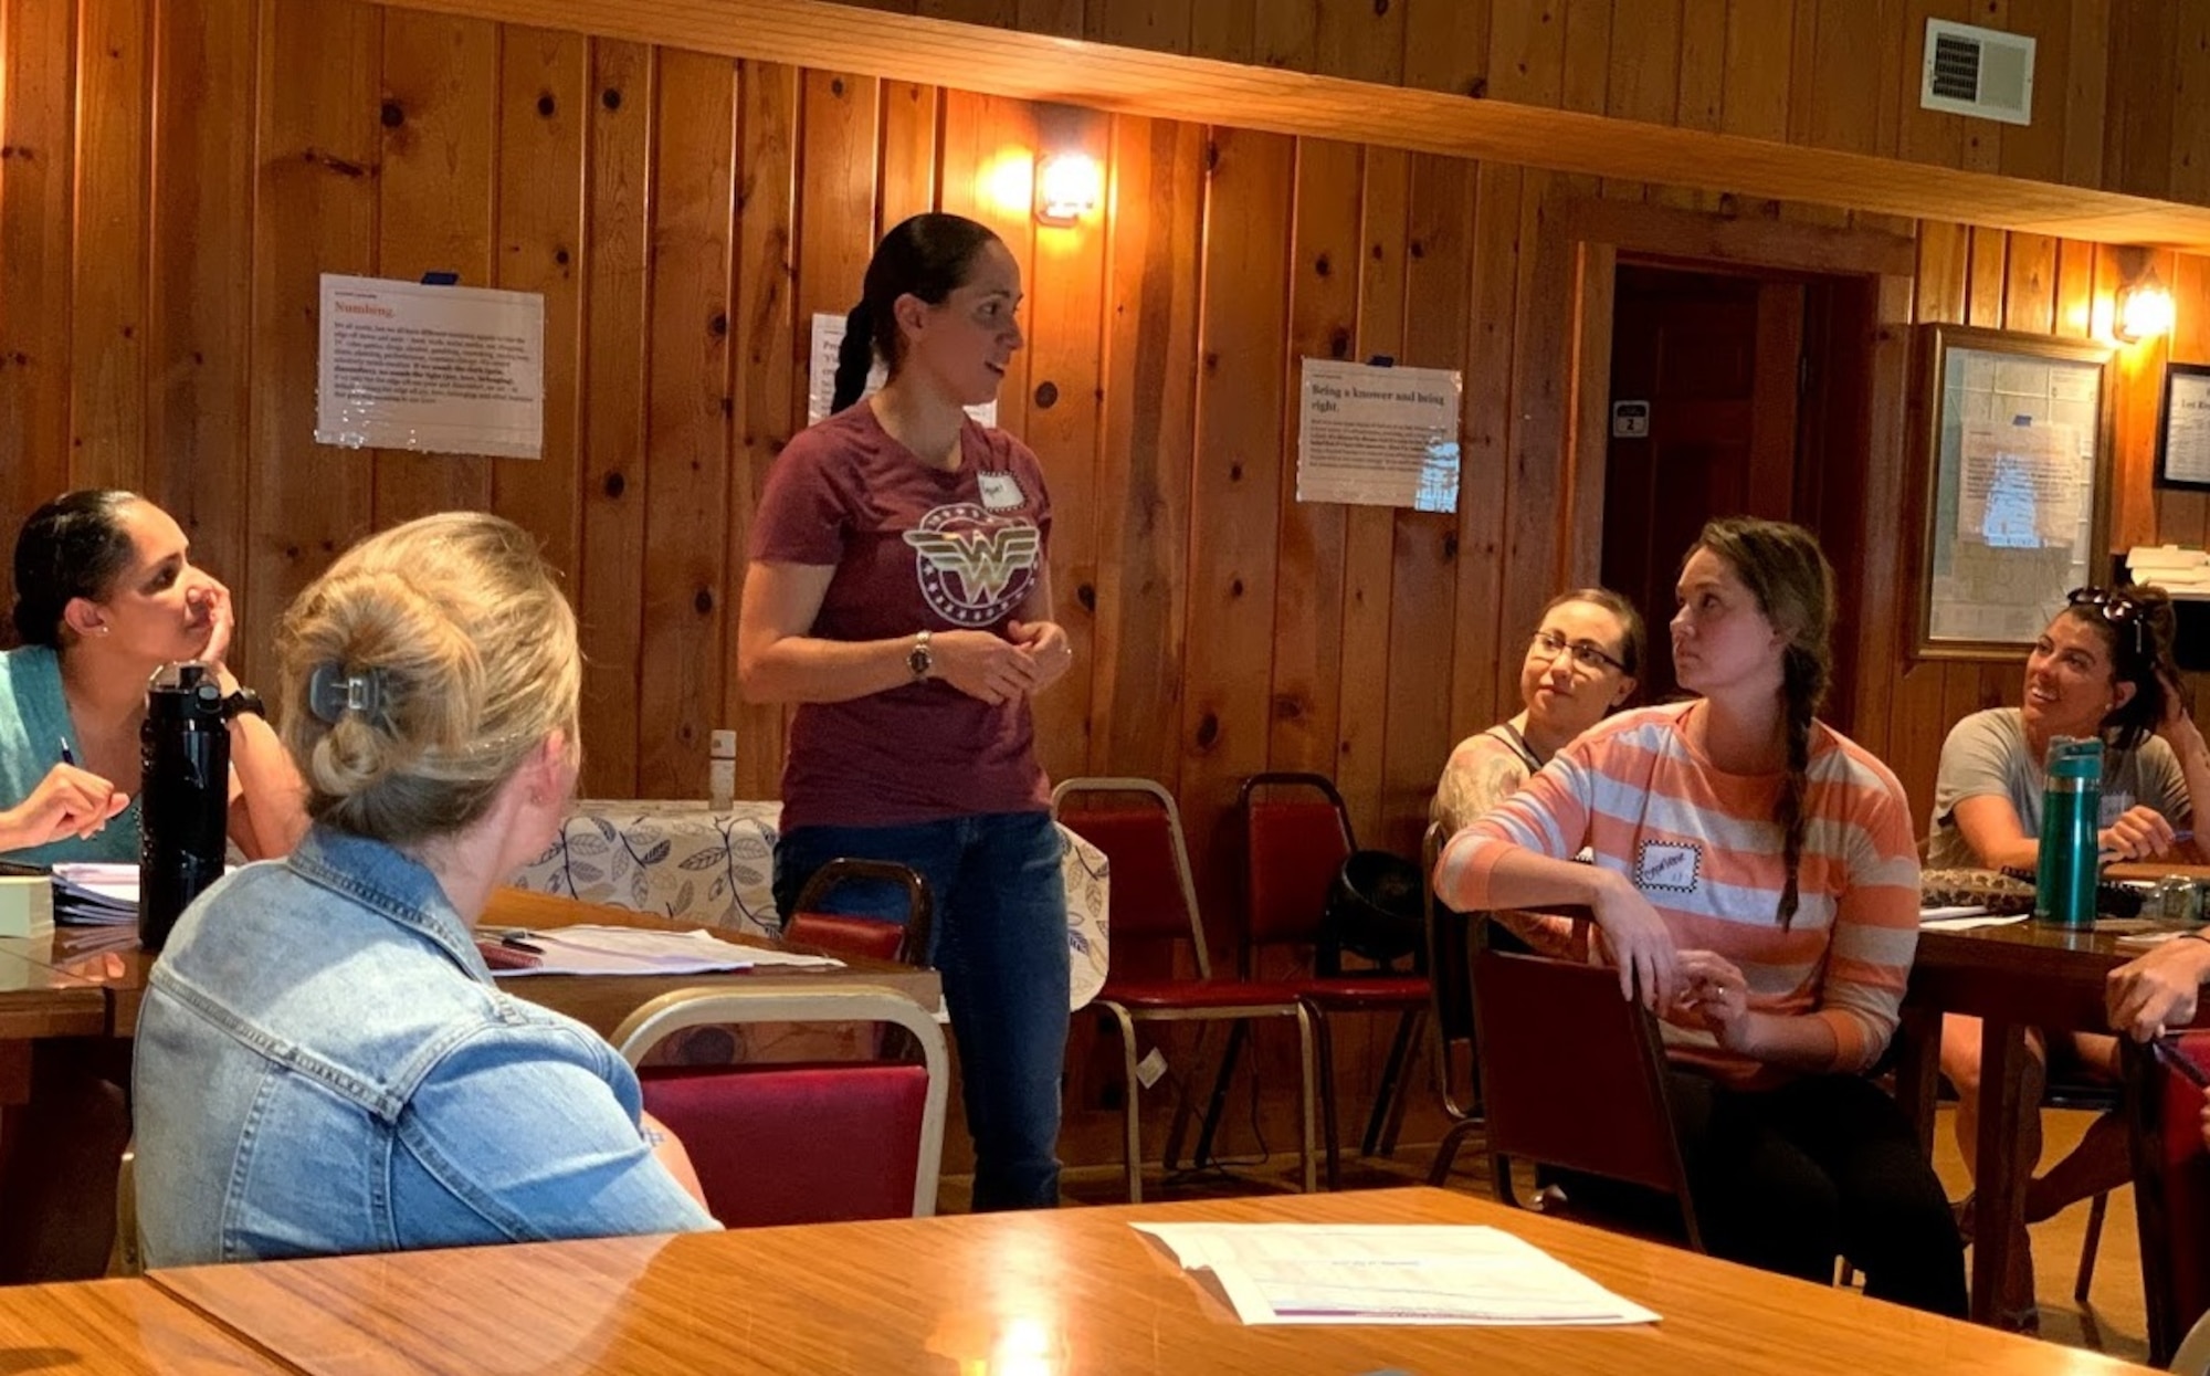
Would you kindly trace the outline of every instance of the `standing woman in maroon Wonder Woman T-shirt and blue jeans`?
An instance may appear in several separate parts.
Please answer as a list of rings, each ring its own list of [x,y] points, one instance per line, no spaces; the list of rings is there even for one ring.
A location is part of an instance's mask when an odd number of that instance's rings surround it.
[[[884,234],[835,414],[760,496],[736,639],[745,697],[798,703],[776,905],[838,856],[911,865],[935,896],[977,1210],[1059,1201],[1067,1042],[1067,898],[1028,708],[1074,659],[1052,619],[1052,504],[1036,456],[966,414],[1021,347],[1019,303],[988,228],[915,215]],[[862,400],[875,358],[888,383]],[[842,894],[899,911],[895,892]]]

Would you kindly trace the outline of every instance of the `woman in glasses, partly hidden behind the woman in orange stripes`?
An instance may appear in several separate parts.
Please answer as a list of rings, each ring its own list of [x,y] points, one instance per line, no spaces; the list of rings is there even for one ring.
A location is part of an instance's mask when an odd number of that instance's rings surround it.
[[[1450,752],[1428,819],[1450,834],[1472,825],[1549,763],[1560,746],[1635,695],[1646,646],[1642,613],[1611,588],[1574,588],[1549,600],[1520,661],[1520,710]],[[1545,956],[1578,956],[1567,918],[1505,911],[1507,931]]]

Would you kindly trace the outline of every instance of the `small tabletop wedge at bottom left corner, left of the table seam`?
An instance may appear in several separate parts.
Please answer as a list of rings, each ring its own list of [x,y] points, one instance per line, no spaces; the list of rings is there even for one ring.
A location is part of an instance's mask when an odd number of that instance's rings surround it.
[[[0,1288],[0,1372],[290,1372],[152,1281]]]

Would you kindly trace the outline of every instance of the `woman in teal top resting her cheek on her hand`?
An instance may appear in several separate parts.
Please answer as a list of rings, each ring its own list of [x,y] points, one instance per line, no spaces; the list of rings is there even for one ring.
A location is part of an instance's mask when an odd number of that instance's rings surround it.
[[[135,861],[146,679],[201,659],[223,692],[230,588],[190,562],[177,522],[135,493],[73,491],[15,538],[15,633],[0,655],[0,856]],[[230,836],[274,856],[305,832],[298,774],[259,717],[230,726]]]

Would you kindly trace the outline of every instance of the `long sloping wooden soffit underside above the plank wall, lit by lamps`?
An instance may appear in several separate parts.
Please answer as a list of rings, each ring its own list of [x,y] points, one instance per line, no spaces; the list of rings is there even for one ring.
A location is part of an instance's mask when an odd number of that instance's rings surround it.
[[[824,0],[378,0],[729,58],[933,82],[1699,190],[2210,252],[2210,208],[1993,170],[1014,33]]]

